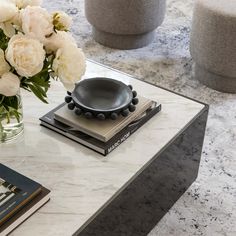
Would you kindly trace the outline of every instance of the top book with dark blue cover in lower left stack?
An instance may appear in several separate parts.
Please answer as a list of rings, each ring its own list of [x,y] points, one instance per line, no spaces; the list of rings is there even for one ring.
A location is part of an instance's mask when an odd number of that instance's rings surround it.
[[[41,185],[0,164],[0,226],[41,191]]]

